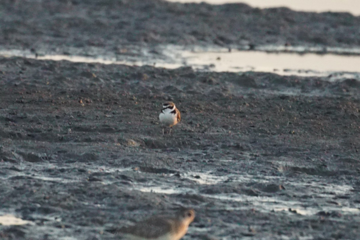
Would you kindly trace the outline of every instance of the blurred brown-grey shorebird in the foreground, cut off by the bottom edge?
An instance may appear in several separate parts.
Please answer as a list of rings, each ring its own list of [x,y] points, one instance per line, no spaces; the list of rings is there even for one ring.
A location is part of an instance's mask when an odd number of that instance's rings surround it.
[[[188,231],[194,217],[194,209],[185,208],[175,216],[153,216],[134,226],[123,227],[119,232],[126,240],[179,240]]]

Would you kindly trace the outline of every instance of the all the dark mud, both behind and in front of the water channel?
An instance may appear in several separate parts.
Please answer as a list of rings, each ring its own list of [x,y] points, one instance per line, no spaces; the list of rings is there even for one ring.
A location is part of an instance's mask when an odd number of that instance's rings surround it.
[[[1,48],[34,54],[360,45],[360,17],[243,4],[5,0],[0,16]],[[331,79],[0,58],[0,213],[32,222],[0,239],[119,239],[180,206],[186,240],[359,239],[360,79]],[[163,137],[167,100],[182,121]]]

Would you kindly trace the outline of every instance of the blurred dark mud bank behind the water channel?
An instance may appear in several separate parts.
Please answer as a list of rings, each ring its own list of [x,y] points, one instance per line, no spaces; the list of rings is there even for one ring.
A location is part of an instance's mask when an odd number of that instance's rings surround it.
[[[349,13],[259,9],[246,4],[161,0],[0,2],[1,47],[32,49],[40,54],[74,54],[78,50],[86,55],[104,51],[121,57],[134,51],[141,54],[136,46],[156,52],[158,44],[359,47],[359,32],[360,16]]]

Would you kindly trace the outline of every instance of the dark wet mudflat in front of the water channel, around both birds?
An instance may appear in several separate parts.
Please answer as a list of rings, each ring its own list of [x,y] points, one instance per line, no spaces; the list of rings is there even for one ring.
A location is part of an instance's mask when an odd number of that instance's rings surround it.
[[[1,239],[359,239],[360,81],[0,59]],[[296,94],[289,94],[296,93]],[[162,136],[173,100],[182,121]],[[152,192],[150,190],[153,190]]]

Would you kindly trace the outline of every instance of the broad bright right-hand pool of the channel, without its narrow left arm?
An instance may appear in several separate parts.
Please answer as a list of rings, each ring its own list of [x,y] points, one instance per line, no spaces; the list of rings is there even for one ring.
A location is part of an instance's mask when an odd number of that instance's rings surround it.
[[[313,53],[299,55],[260,51],[184,52],[182,56],[188,65],[200,69],[203,65],[210,65],[210,69],[216,72],[255,71],[300,76],[327,76],[331,72],[360,72],[360,56]]]

